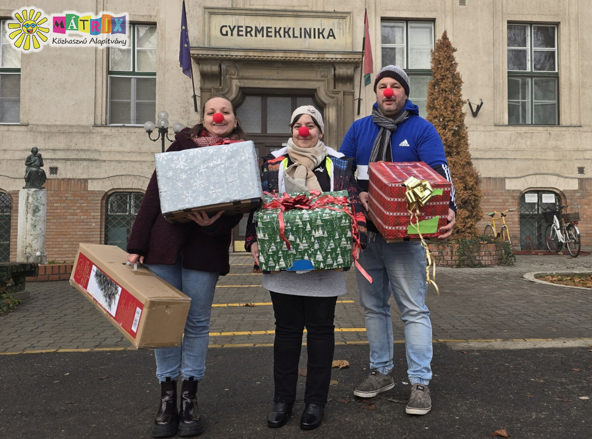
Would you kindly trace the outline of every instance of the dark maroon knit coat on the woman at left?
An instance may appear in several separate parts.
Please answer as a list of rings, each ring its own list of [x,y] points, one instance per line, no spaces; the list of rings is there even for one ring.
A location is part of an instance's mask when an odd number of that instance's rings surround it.
[[[167,151],[197,148],[186,138],[188,132],[189,128],[185,128],[176,134]],[[184,268],[226,275],[230,271],[231,231],[242,217],[222,215],[208,227],[201,227],[194,221],[184,224],[167,221],[160,212],[158,183],[153,172],[131,228],[127,252],[144,256],[145,264],[173,265],[182,251]]]

